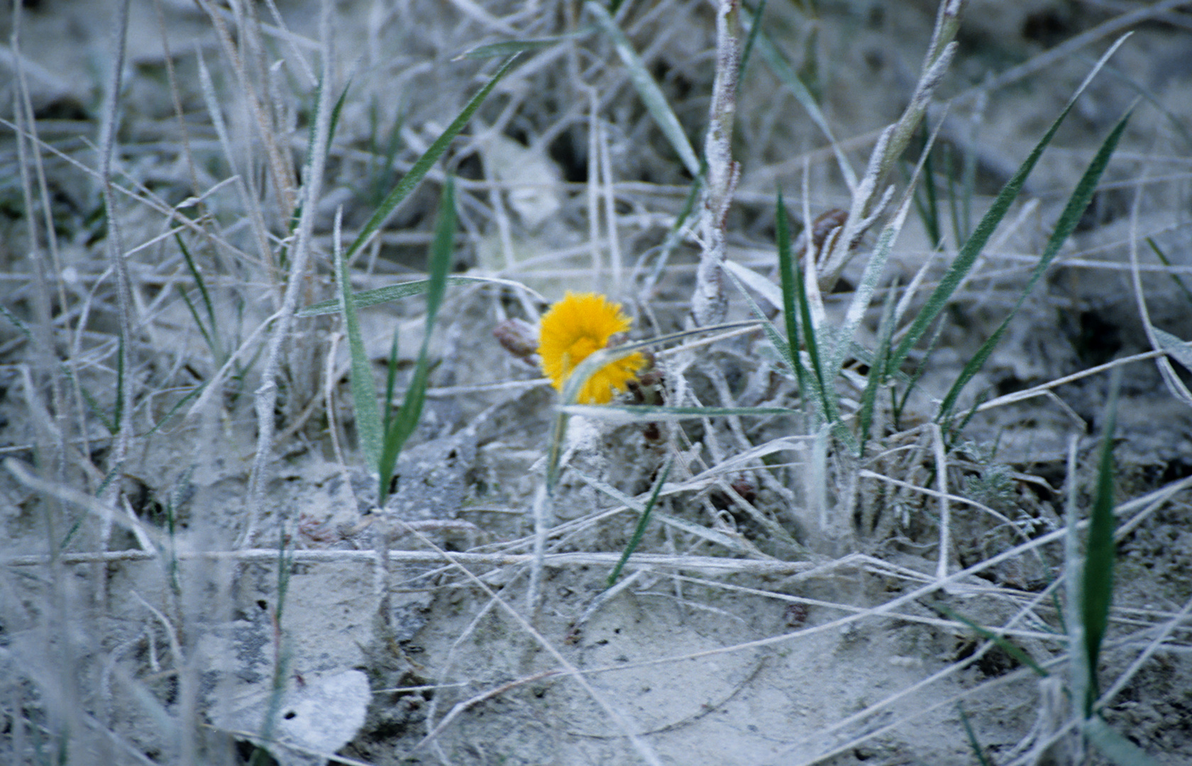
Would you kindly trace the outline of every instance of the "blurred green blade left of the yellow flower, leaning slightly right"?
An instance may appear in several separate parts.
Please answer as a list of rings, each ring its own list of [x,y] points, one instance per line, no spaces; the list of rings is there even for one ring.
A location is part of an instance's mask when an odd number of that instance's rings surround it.
[[[380,487],[377,497],[380,503],[385,503],[389,493],[389,484],[393,477],[393,467],[397,465],[397,456],[402,453],[402,447],[414,434],[422,417],[422,405],[427,400],[427,381],[430,378],[430,335],[435,329],[435,319],[439,316],[439,306],[442,305],[443,293],[447,291],[447,272],[451,269],[451,256],[455,249],[455,180],[447,176],[443,185],[442,198],[439,203],[439,222],[435,225],[435,238],[430,245],[430,285],[427,289],[427,329],[422,336],[422,348],[418,351],[418,361],[414,367],[414,375],[410,385],[405,390],[405,398],[397,417],[389,423],[385,429],[385,446],[381,451],[380,463]]]

